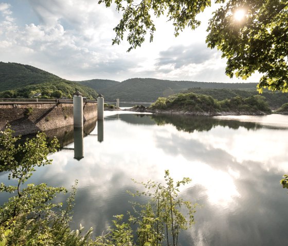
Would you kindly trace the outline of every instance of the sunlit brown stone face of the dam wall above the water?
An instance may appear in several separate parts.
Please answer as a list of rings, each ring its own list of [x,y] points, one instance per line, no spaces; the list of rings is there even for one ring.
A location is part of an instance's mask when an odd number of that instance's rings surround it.
[[[83,120],[97,117],[97,104],[83,102]],[[73,125],[73,104],[31,103],[0,104],[0,129],[7,124],[17,135],[37,133]]]

